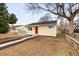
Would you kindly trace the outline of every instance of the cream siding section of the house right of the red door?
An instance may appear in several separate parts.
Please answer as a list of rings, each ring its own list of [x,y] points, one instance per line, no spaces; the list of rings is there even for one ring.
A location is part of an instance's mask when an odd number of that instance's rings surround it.
[[[56,36],[56,26],[54,26],[54,28],[49,28],[48,26],[39,27],[38,34],[46,36]]]

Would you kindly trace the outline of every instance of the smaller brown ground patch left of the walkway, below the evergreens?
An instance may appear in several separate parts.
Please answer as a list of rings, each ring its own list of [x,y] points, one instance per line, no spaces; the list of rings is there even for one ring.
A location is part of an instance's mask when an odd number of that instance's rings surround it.
[[[10,40],[15,40],[15,38],[18,39],[20,37],[23,37],[23,35],[19,35],[16,32],[0,34],[0,43]]]

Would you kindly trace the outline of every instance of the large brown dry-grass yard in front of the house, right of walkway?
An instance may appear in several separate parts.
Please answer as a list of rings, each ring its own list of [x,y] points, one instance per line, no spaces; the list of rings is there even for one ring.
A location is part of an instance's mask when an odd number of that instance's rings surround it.
[[[20,44],[0,50],[1,56],[69,56],[77,51],[63,37],[38,36]]]

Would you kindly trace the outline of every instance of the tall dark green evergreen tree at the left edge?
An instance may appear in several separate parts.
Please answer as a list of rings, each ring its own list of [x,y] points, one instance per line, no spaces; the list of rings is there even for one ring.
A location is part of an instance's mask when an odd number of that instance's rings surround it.
[[[5,3],[0,3],[0,33],[6,33],[9,31],[9,13]]]

